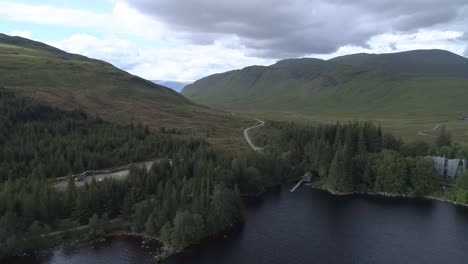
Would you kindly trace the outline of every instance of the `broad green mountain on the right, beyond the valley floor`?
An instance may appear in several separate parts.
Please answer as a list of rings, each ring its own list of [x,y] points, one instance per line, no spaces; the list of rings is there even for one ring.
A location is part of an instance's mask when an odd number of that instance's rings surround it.
[[[211,75],[182,94],[238,111],[454,119],[468,113],[468,59],[443,50],[287,59]]]

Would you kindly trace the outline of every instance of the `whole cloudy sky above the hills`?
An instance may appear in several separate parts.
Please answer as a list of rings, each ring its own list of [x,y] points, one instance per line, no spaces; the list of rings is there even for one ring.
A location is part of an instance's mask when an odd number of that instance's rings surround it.
[[[294,57],[446,49],[468,57],[467,0],[0,0],[0,32],[193,81]]]

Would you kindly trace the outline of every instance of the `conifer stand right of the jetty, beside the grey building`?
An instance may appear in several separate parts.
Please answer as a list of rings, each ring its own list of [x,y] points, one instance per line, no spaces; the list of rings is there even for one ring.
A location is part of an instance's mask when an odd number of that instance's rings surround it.
[[[391,193],[438,195],[468,203],[468,175],[455,183],[440,177],[428,156],[468,157],[466,148],[453,145],[441,130],[436,144],[404,143],[372,123],[301,126],[270,122],[280,131],[264,137],[267,152],[289,160],[297,173],[309,172],[317,186],[337,193]],[[441,186],[453,186],[441,192]]]

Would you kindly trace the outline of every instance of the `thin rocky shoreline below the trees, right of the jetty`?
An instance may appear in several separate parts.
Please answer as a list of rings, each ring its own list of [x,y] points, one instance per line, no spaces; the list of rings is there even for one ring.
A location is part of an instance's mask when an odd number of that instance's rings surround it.
[[[423,199],[423,200],[439,201],[439,202],[451,203],[453,205],[468,207],[468,204],[465,204],[465,203],[459,203],[459,202],[455,202],[452,200],[448,200],[448,199],[444,199],[444,198],[440,198],[436,196],[430,196],[430,195],[429,196],[414,196],[411,194],[398,194],[398,193],[388,193],[388,192],[357,192],[357,191],[339,192],[339,191],[330,190],[322,186],[314,186],[312,184],[310,185],[310,187],[315,190],[328,192],[329,194],[332,194],[335,196],[367,195],[367,196],[387,197],[387,198]]]

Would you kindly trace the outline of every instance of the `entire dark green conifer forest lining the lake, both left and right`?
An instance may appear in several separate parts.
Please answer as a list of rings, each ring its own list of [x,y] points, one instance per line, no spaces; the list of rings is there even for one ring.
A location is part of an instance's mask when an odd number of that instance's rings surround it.
[[[404,143],[372,123],[268,126],[279,133],[259,138],[262,154],[235,157],[202,139],[112,124],[0,89],[0,256],[47,247],[66,239],[67,232],[57,231],[81,225],[88,228],[80,238],[94,240],[115,221],[183,249],[242,222],[242,196],[306,173],[314,185],[338,193],[437,194],[468,202],[468,176],[448,182],[426,157],[467,156],[444,129],[431,145]],[[53,188],[57,177],[143,160],[157,162],[132,166],[124,180],[78,188],[70,177],[65,191]]]

